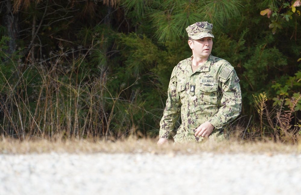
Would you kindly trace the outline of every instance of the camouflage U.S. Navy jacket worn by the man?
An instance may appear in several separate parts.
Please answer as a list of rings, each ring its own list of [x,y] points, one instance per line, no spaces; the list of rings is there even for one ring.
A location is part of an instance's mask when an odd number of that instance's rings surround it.
[[[203,138],[194,133],[206,121],[215,126],[209,139],[224,137],[224,127],[240,114],[241,91],[233,66],[210,54],[193,73],[192,58],[182,60],[172,71],[160,122],[160,138],[169,138],[180,114],[181,124],[174,136],[175,142],[202,141]]]

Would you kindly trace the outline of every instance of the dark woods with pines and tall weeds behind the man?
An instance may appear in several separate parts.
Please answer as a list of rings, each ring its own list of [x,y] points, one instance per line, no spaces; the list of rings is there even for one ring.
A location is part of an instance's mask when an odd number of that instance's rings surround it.
[[[185,28],[213,23],[212,54],[240,78],[239,140],[296,142],[300,1],[3,0],[0,132],[19,139],[155,137]],[[178,125],[178,124],[177,124]]]

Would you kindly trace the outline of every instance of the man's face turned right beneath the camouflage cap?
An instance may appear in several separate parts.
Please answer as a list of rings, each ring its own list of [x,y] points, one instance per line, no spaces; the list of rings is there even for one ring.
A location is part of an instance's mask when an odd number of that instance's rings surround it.
[[[206,58],[211,53],[213,41],[211,37],[205,37],[194,41],[188,40],[188,44],[192,49],[193,57]]]

